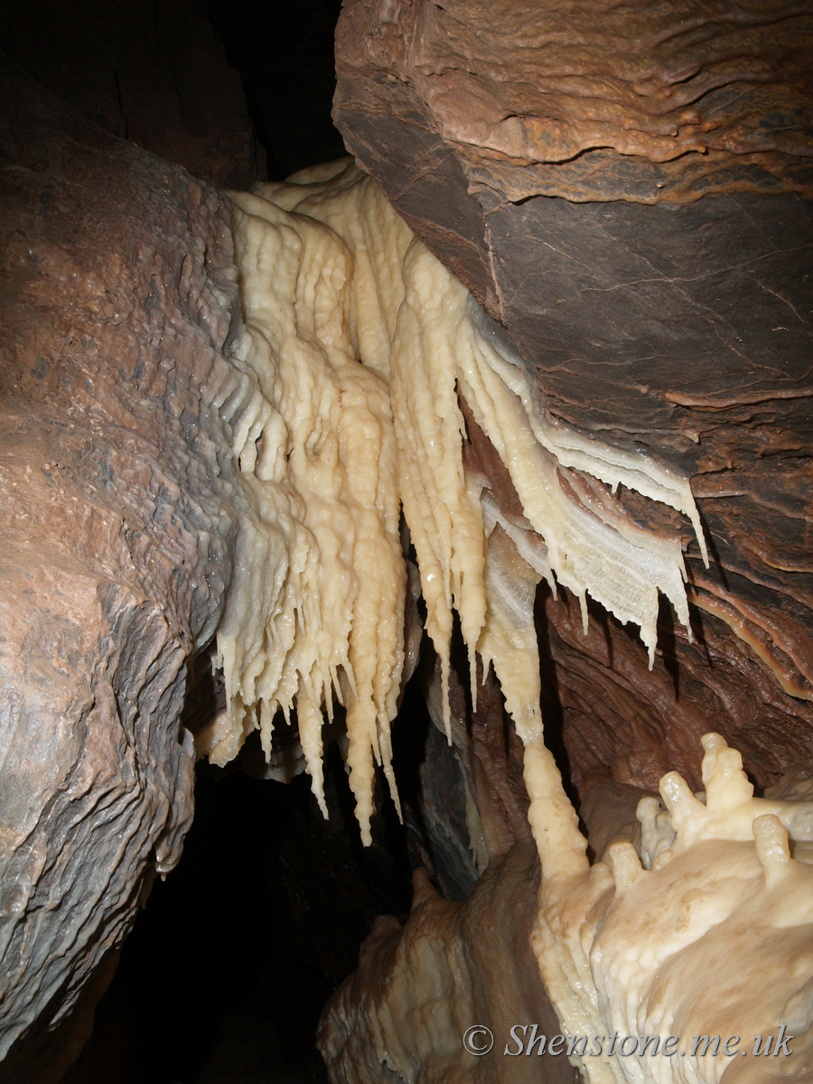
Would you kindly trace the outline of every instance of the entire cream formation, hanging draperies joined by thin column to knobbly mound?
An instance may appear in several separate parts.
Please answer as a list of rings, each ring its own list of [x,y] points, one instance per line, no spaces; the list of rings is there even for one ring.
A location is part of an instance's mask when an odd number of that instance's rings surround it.
[[[746,792],[737,754],[709,737],[706,801],[666,776],[666,811],[644,804],[640,813],[643,864],[631,844],[614,844],[591,868],[544,745],[537,583],[545,577],[570,590],[585,620],[590,594],[636,624],[651,666],[659,593],[688,628],[681,545],[631,522],[610,490],[622,485],[685,514],[706,557],[688,480],[551,418],[521,359],[356,167],[320,167],[232,199],[244,324],[232,358],[243,382],[221,413],[242,470],[244,526],[218,630],[228,707],[199,736],[199,752],[224,763],[259,725],[270,753],[275,713],[295,708],[324,806],[322,718],[337,699],[370,840],[376,763],[397,802],[389,726],[404,660],[402,509],[444,705],[456,611],[473,698],[479,654],[486,669],[493,663],[526,746],[542,864],[531,942],[565,1031],[757,1034],[785,1011],[806,1028],[802,988],[813,962],[800,931],[813,921],[813,870],[793,848],[808,814],[760,804]],[[488,480],[464,466],[459,396],[507,468],[521,516],[507,516]],[[776,970],[767,950],[754,946],[739,965],[745,983],[718,965],[718,985],[699,991],[698,956],[708,947],[722,960],[746,920],[772,939],[783,929],[771,951],[780,970],[797,962],[792,980],[777,979],[766,999],[754,999],[748,991],[760,969]],[[714,993],[721,983],[727,1001]],[[593,1084],[717,1081],[727,1064],[646,1054],[591,1059],[578,1049],[572,1059]],[[726,1081],[752,1079],[752,1060],[737,1060]],[[414,1079],[414,1066],[390,1068]]]

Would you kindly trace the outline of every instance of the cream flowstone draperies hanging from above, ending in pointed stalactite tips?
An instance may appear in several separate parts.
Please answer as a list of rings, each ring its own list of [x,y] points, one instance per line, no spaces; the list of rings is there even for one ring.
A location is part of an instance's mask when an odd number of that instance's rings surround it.
[[[557,466],[631,486],[695,524],[697,513],[686,479],[537,416],[521,364],[370,178],[341,164],[293,181],[232,195],[243,379],[221,413],[243,517],[218,630],[228,708],[198,749],[225,763],[259,725],[270,756],[276,711],[296,707],[324,805],[322,717],[335,697],[347,708],[350,785],[369,841],[376,762],[398,800],[389,724],[403,666],[401,506],[444,693],[456,609],[472,674],[476,651],[494,663],[518,733],[543,759],[532,621],[541,576],[635,622],[650,658],[658,591],[687,622],[678,540],[589,507],[565,492]],[[511,472],[519,525],[485,479],[466,475],[457,388]]]

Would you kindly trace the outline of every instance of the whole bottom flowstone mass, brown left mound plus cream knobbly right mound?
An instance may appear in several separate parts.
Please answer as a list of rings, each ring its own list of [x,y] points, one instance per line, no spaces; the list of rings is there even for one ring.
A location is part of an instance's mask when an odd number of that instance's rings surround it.
[[[386,1067],[406,1081],[808,1080],[810,779],[787,791],[790,801],[758,799],[735,750],[715,734],[704,748],[705,795],[664,776],[662,804],[651,797],[638,808],[637,848],[622,828],[592,866],[549,848],[535,904],[539,866],[520,843],[465,906],[416,885],[403,930],[380,921],[325,1011],[320,1043],[333,1079],[372,1081]],[[611,823],[610,801],[602,812]],[[530,813],[538,833],[553,833],[556,815],[550,798]],[[474,926],[469,916],[483,913],[490,924]],[[529,915],[558,1019],[517,950]],[[464,1041],[474,1020],[475,1049]],[[572,1067],[565,1041],[528,1050],[538,1034],[550,1043],[563,1033]]]

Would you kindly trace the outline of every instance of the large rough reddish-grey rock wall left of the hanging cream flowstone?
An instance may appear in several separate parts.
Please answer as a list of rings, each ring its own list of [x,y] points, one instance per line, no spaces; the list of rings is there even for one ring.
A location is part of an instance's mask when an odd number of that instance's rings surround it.
[[[212,190],[1,79],[0,1075],[46,1082],[192,817],[236,294]]]

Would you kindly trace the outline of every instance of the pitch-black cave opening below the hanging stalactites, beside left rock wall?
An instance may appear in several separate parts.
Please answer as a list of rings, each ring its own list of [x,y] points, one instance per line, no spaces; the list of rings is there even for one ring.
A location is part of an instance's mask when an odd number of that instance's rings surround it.
[[[153,885],[66,1084],[326,1080],[319,1016],[375,916],[405,916],[409,869],[349,841],[337,788],[328,825],[306,775],[220,774],[201,766],[181,862]]]

